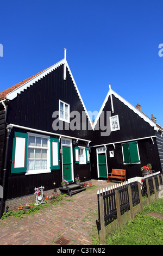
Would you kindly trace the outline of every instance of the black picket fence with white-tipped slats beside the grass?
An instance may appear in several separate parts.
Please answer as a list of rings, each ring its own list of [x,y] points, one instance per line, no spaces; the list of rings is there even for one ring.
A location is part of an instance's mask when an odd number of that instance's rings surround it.
[[[155,182],[153,182],[153,178]],[[154,193],[154,184],[155,184],[156,190],[158,190],[159,186],[163,184],[160,173],[159,175],[153,174],[152,176],[149,176],[147,178],[142,177],[142,179],[144,180],[144,188],[146,191],[147,191],[147,182],[148,182],[150,194]],[[104,222],[106,226],[110,224],[112,221],[117,219],[116,191],[118,191],[118,196],[120,201],[120,212],[121,212],[121,215],[123,215],[124,212],[127,212],[130,210],[131,204],[129,203],[129,187],[131,191],[132,205],[136,206],[137,204],[140,203],[139,186],[140,186],[139,182],[131,181],[131,182],[124,182],[123,184],[121,183],[120,185],[111,186],[109,188],[105,188],[105,189],[103,188],[103,190],[101,190],[100,192],[99,191],[97,192],[99,227],[101,224],[99,196],[102,196],[103,198]],[[141,195],[143,196],[142,190],[141,190]]]

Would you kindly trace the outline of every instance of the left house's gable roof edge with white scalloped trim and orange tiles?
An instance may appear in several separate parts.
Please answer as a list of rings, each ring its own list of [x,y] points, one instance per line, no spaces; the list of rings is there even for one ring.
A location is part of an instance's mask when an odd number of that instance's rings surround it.
[[[71,76],[72,81],[74,83],[74,87],[77,90],[77,94],[79,96],[80,101],[82,102],[82,105],[84,107],[84,110],[85,110],[85,113],[87,115],[87,118],[89,119],[90,125],[91,125],[91,127],[93,129],[92,121],[90,119],[89,114],[87,113],[87,110],[86,110],[86,107],[84,105],[82,96],[79,93],[77,84],[74,81],[72,72],[71,72],[70,67],[68,66],[67,60],[65,58],[60,60],[60,62],[50,66],[49,68],[47,68],[47,69],[37,73],[36,75],[31,76],[31,77],[27,78],[26,80],[23,80],[22,82],[15,84],[15,86],[12,86],[12,87],[8,88],[7,90],[4,90],[3,92],[0,93],[0,101],[3,101],[5,99],[13,100],[17,96],[18,93],[23,92],[23,90],[26,89],[27,87],[33,86],[35,82],[37,82],[41,78],[45,77],[50,72],[52,72],[53,70],[57,69],[60,65],[65,64],[65,63],[66,63],[66,67],[67,67],[68,71],[70,72],[70,76]],[[63,75],[63,77],[64,77],[64,75]]]

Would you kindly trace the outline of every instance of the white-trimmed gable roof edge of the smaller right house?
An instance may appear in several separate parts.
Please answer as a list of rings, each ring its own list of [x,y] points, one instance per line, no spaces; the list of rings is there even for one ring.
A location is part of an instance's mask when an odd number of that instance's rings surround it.
[[[156,124],[151,120],[151,118],[147,117],[147,115],[143,114],[141,111],[139,111],[139,109],[137,109],[136,107],[134,107],[133,105],[131,105],[127,100],[124,100],[123,97],[121,97],[120,95],[118,95],[117,93],[114,92],[114,90],[112,90],[111,88],[109,89],[108,94],[105,97],[105,100],[103,102],[103,105],[97,115],[97,118],[95,120],[95,123],[93,124],[93,128],[95,129],[95,126],[97,124],[97,121],[106,105],[106,102],[109,99],[109,96],[111,97],[111,95],[114,95],[117,99],[119,99],[121,102],[124,103],[124,105],[128,106],[131,110],[134,111],[134,113],[138,114],[139,117],[143,118],[147,123],[149,123],[152,127],[154,127],[154,130],[158,130],[158,128],[156,127]]]

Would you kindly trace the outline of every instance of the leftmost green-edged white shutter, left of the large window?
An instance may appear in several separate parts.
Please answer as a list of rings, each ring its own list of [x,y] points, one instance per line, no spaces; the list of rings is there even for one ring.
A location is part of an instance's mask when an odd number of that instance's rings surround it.
[[[12,144],[11,174],[26,173],[27,171],[28,134],[14,132]]]

